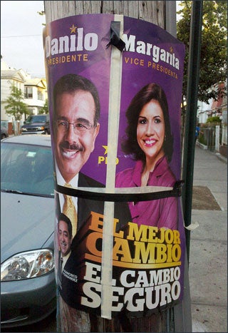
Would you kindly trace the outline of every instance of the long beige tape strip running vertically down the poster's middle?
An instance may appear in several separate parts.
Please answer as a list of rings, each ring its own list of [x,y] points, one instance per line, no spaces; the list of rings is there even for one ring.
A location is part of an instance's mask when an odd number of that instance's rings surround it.
[[[122,38],[123,15],[115,15],[114,21],[120,21],[120,38]],[[108,193],[115,193],[115,160],[117,157],[118,146],[121,78],[122,53],[118,48],[112,46],[108,110],[108,158],[106,172],[106,189]],[[105,202],[101,263],[101,317],[107,319],[111,319],[112,312],[113,217],[114,203]]]

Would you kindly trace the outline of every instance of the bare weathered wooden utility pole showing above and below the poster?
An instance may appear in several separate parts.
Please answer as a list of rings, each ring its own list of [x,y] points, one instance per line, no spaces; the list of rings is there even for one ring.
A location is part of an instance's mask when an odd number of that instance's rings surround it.
[[[170,26],[170,15],[175,13],[175,1],[43,1],[46,24],[64,17],[81,14],[120,14],[148,21],[175,35]],[[169,19],[167,19],[169,17]],[[171,19],[172,20],[172,19]],[[173,17],[175,22],[175,17]],[[175,25],[175,24],[174,24]],[[167,309],[149,317],[130,320],[130,331],[120,326],[117,320],[99,318],[93,323],[91,332],[178,332],[175,329],[175,311]],[[70,319],[69,319],[70,320]],[[97,320],[97,319],[96,319]],[[93,331],[95,329],[95,331]],[[180,331],[179,331],[180,332]],[[185,329],[182,332],[187,332]],[[190,332],[190,331],[189,331]]]

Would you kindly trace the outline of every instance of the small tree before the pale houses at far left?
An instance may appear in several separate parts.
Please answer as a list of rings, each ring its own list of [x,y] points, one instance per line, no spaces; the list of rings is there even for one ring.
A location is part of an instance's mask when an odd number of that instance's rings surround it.
[[[21,121],[23,115],[28,115],[29,110],[24,103],[24,96],[21,89],[11,86],[11,95],[4,101],[5,110],[9,116],[14,116],[16,121]]]

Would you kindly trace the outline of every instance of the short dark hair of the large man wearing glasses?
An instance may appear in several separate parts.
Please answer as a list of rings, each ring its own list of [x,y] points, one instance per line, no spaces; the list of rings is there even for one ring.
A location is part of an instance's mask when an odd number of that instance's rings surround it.
[[[100,118],[100,99],[97,88],[94,84],[83,76],[78,74],[66,74],[58,79],[53,88],[53,106],[56,109],[56,98],[62,93],[74,93],[75,91],[88,91],[93,96],[95,103],[94,125],[98,123]],[[55,116],[55,114],[53,114]]]

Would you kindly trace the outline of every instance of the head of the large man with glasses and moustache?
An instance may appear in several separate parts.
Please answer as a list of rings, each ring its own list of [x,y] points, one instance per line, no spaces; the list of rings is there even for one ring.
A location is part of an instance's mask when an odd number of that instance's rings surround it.
[[[54,87],[53,103],[57,183],[63,183],[63,178],[77,187],[73,178],[90,157],[100,129],[98,91],[87,78],[67,74]]]

